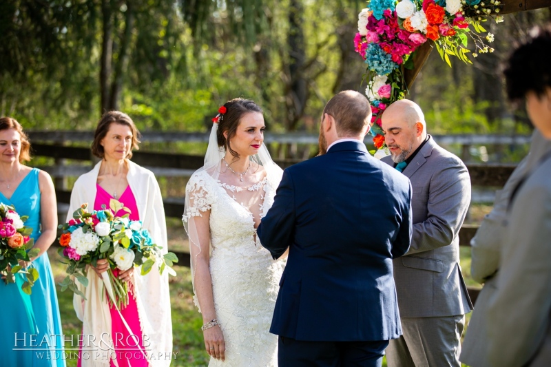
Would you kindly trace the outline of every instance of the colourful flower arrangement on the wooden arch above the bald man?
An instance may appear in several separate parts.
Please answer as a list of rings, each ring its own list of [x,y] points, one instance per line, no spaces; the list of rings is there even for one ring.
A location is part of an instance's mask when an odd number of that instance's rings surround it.
[[[368,7],[358,15],[354,43],[367,64],[366,96],[373,112],[371,135],[376,149],[384,148],[382,112],[389,104],[405,98],[408,84],[413,82],[406,80],[406,74],[414,67],[418,72],[421,67],[414,65],[415,52],[422,48],[429,48],[430,52],[430,45],[435,45],[450,67],[450,56],[472,63],[469,54],[477,57],[478,53],[494,51],[486,44],[494,36],[481,23],[488,18],[497,23],[503,21],[499,15],[501,7],[499,0],[368,1]],[[474,52],[467,48],[469,39],[474,42]]]

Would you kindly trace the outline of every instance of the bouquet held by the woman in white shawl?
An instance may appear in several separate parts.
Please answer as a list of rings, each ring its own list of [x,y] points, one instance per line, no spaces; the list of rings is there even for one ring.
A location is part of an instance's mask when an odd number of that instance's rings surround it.
[[[115,216],[114,213],[121,209],[127,214]],[[68,264],[68,275],[59,284],[61,291],[68,288],[85,298],[75,280],[87,286],[86,265],[96,266],[99,259],[107,259],[110,264],[107,276],[114,298],[110,302],[116,302],[118,308],[128,304],[128,285],[114,275],[115,269],[126,271],[132,266],[141,266],[141,275],[146,275],[157,264],[159,273],[167,270],[176,275],[171,268],[174,262],[178,262],[176,255],[171,252],[163,255],[160,252],[162,247],[153,243],[141,221],[129,220],[128,213],[129,209],[114,199],[111,199],[109,209],[99,211],[90,212],[84,204],[73,213],[72,220],[59,226],[63,229],[59,254]]]

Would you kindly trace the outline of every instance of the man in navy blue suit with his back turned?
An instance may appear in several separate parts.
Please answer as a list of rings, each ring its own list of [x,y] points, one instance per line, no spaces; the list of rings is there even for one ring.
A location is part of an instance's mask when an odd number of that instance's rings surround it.
[[[286,169],[258,237],[289,249],[270,332],[280,366],[381,366],[402,334],[392,260],[411,238],[408,179],[363,143],[371,107],[340,92],[325,106],[320,149]]]

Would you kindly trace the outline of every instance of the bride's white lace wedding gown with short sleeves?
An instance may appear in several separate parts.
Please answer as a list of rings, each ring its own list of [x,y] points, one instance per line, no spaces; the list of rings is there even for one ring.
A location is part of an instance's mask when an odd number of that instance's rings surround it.
[[[255,228],[275,189],[266,178],[251,187],[230,186],[206,171],[187,184],[188,218],[211,211],[210,273],[226,360],[211,358],[209,366],[278,366],[278,337],[269,328],[284,261],[271,258]]]

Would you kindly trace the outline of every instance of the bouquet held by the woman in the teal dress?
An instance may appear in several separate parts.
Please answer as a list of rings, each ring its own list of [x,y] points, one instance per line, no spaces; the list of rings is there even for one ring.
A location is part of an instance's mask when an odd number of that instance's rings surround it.
[[[29,238],[32,228],[23,225],[27,219],[26,216],[20,217],[14,207],[0,204],[0,273],[6,284],[15,282],[15,274],[25,274],[26,281],[21,284],[21,289],[31,294],[31,287],[39,278],[39,272],[19,265],[20,260],[30,261],[39,253],[39,249],[32,249],[34,240]]]

